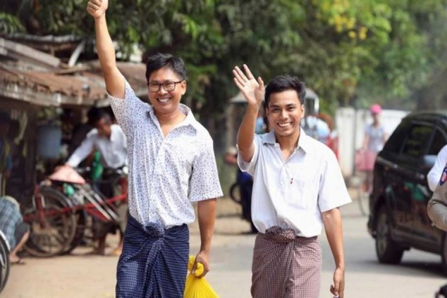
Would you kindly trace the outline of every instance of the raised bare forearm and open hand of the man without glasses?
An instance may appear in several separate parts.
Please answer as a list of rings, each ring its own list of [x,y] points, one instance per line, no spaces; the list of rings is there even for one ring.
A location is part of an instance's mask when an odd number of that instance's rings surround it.
[[[233,70],[234,83],[242,92],[248,103],[242,123],[237,133],[237,147],[245,161],[251,161],[254,154],[254,135],[256,118],[264,96],[264,82],[261,77],[254,78],[248,67],[243,66],[245,74],[236,66]]]

